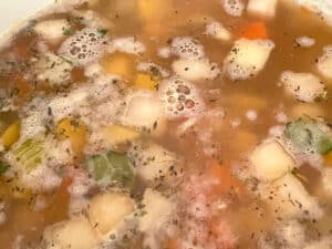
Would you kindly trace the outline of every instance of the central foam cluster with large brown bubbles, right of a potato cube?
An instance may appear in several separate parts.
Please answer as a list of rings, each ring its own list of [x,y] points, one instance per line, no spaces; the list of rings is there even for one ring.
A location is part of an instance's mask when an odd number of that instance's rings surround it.
[[[159,93],[170,118],[195,116],[205,107],[195,85],[179,77],[162,82]]]

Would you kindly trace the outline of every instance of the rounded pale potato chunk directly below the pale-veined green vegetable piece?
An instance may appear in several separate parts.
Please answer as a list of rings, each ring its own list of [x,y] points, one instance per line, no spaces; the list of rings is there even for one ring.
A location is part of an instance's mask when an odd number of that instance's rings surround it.
[[[91,225],[102,235],[107,235],[134,210],[133,200],[127,195],[105,193],[91,200],[87,215]]]

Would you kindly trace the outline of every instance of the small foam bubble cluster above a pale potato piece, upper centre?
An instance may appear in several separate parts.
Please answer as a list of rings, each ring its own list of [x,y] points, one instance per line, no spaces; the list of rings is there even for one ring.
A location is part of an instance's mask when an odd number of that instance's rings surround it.
[[[173,39],[172,52],[181,59],[200,59],[205,55],[203,45],[189,37]]]

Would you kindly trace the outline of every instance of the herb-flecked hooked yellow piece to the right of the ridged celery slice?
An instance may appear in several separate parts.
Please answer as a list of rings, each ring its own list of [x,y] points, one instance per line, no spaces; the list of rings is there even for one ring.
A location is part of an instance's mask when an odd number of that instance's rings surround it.
[[[64,118],[58,124],[55,134],[60,139],[69,138],[71,141],[73,153],[76,156],[83,154],[87,136],[87,129],[83,124],[75,120]]]

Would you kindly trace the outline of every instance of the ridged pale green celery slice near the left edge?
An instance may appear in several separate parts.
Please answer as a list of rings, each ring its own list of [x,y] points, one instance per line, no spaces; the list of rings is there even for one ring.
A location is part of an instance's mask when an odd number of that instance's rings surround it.
[[[43,158],[44,149],[41,141],[27,139],[13,151],[17,162],[27,170],[35,168]]]

